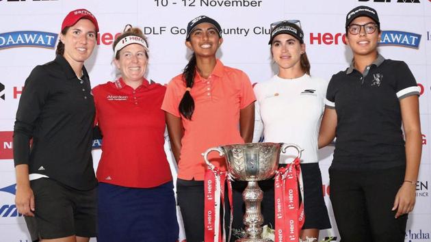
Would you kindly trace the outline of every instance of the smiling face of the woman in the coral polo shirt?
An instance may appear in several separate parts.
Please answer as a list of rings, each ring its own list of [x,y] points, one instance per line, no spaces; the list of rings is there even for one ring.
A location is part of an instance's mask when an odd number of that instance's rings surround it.
[[[201,23],[190,33],[185,45],[194,51],[196,57],[215,57],[215,53],[222,44],[223,39],[218,35],[217,29],[209,23]]]

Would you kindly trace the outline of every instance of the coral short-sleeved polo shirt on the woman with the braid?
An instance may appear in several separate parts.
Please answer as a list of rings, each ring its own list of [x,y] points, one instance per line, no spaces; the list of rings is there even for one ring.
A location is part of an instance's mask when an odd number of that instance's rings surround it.
[[[247,75],[241,70],[223,66],[220,60],[217,60],[208,79],[203,79],[196,72],[190,92],[195,103],[192,120],[185,119],[179,113],[184,92],[185,83],[182,75],[178,75],[168,84],[161,109],[181,117],[183,122],[178,178],[204,180],[207,165],[202,153],[211,147],[244,143],[239,135],[239,111],[256,98]],[[211,152],[209,160],[220,169],[226,169],[225,161],[218,152]]]

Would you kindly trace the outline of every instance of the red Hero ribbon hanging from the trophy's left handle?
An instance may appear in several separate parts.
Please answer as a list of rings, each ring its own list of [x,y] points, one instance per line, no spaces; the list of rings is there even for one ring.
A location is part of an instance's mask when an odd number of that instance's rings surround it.
[[[205,172],[205,242],[225,242],[226,231],[221,228],[220,219],[224,218],[224,185],[227,181],[228,200],[231,207],[231,219],[229,224],[228,240],[231,240],[231,227],[233,220],[232,184],[227,172],[220,172],[218,168],[210,168]],[[223,209],[223,217],[220,218],[220,207]],[[225,227],[225,226],[224,226]]]

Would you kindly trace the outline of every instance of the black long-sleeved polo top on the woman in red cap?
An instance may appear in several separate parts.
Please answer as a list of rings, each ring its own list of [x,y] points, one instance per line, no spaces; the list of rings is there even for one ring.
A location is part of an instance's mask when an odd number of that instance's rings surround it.
[[[75,189],[94,188],[94,110],[86,68],[78,79],[61,55],[36,66],[25,81],[16,112],[15,165],[28,164],[29,174],[46,175]]]

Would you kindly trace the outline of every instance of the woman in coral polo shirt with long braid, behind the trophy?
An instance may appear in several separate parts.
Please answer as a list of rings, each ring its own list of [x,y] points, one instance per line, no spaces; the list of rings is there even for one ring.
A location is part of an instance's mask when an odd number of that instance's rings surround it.
[[[179,167],[177,197],[187,242],[204,240],[207,165],[201,154],[214,146],[252,140],[256,98],[247,75],[215,57],[222,42],[222,29],[212,18],[190,21],[185,45],[193,55],[184,72],[168,84],[161,106]],[[224,169],[218,154],[209,159]]]

